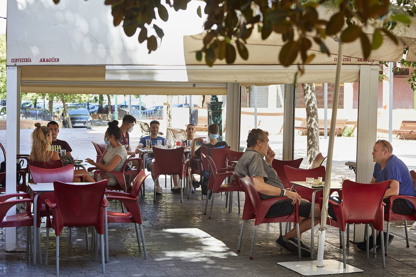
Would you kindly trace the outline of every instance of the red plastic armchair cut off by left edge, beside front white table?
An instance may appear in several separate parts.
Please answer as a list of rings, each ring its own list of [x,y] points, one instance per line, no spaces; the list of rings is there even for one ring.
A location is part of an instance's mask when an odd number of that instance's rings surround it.
[[[12,199],[15,197],[22,197],[22,199]],[[7,201],[8,200],[8,201]],[[6,216],[7,211],[10,208],[14,208],[15,205],[20,203],[26,203],[26,211],[23,213]],[[31,205],[33,199],[30,194],[5,194],[0,196],[0,228],[3,227],[27,227],[26,228],[26,253],[32,252],[32,228],[33,226],[33,213],[31,212]]]

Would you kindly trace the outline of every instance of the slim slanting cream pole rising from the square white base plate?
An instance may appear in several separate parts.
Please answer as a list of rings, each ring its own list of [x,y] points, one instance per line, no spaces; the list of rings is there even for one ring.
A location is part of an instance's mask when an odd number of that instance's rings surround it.
[[[339,82],[341,79],[342,49],[343,49],[343,44],[341,40],[339,39],[338,40],[337,71],[335,74],[335,90],[334,90],[334,99],[332,102],[331,129],[329,130],[327,171],[325,173],[324,202],[323,202],[322,211],[321,211],[321,226],[318,229],[319,231],[321,231],[321,233],[319,235],[319,240],[318,240],[317,267],[324,266],[323,263],[324,263],[325,231],[327,229],[326,227],[327,227],[329,189],[331,187],[332,154],[334,152],[335,123],[337,121]]]

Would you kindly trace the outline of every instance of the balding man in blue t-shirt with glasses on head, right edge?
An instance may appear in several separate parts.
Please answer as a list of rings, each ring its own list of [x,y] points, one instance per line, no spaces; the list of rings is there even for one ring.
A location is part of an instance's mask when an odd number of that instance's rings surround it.
[[[373,161],[374,172],[373,178],[370,183],[378,183],[386,180],[391,180],[390,186],[384,194],[383,201],[386,203],[384,206],[384,213],[387,213],[389,206],[393,213],[399,214],[413,214],[415,212],[414,206],[404,200],[395,199],[393,203],[389,203],[389,197],[394,195],[408,195],[416,196],[413,181],[410,176],[409,169],[406,167],[401,159],[393,154],[393,146],[387,140],[377,140],[373,147]],[[393,240],[393,235],[389,235],[389,244]],[[386,233],[384,233],[386,239]],[[370,236],[369,244],[373,244],[373,238]],[[381,238],[377,231],[377,252],[381,252]],[[357,244],[357,247],[361,250],[366,250],[366,241]]]

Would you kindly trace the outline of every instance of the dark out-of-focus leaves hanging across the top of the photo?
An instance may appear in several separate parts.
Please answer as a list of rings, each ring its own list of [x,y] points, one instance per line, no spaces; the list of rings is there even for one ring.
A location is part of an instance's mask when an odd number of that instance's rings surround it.
[[[58,3],[59,0],[53,0]],[[166,6],[175,11],[186,10],[191,0],[165,0]],[[238,54],[248,59],[246,40],[253,31],[261,32],[262,39],[275,32],[282,35],[285,45],[279,53],[280,62],[289,66],[298,54],[303,63],[307,64],[314,58],[308,54],[313,44],[328,53],[324,39],[327,36],[340,36],[342,42],[361,41],[364,58],[368,58],[372,49],[377,49],[383,42],[382,34],[397,43],[391,29],[402,22],[410,24],[407,15],[414,15],[414,0],[204,0],[207,15],[204,24],[204,46],[196,52],[196,58],[206,64],[213,65],[217,60],[232,64]],[[161,0],[105,0],[111,5],[114,26],[122,24],[124,32],[131,37],[139,29],[138,41],[147,41],[149,53],[158,47],[158,40],[164,36],[163,30],[152,24],[156,12],[163,20],[168,20],[168,11]],[[335,11],[334,15],[325,20],[319,18],[318,7],[326,6]],[[393,8],[391,6],[394,6]],[[196,10],[201,15],[201,7]],[[407,14],[407,15],[406,15]],[[381,19],[382,26],[374,26],[374,33],[367,35],[362,30],[371,25],[373,19]],[[346,28],[343,28],[347,24]],[[153,28],[156,36],[148,37],[148,29]],[[152,32],[153,33],[153,32]],[[234,47],[234,44],[236,47]]]

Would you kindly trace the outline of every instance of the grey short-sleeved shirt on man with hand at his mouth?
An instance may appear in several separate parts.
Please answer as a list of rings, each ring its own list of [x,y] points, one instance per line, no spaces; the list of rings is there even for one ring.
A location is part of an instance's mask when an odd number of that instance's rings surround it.
[[[277,176],[276,171],[272,168],[271,165],[267,164],[264,156],[252,148],[247,148],[238,160],[237,165],[235,166],[234,173],[239,177],[250,176],[251,178],[255,176],[262,176],[264,182],[270,186],[275,186],[279,189],[285,189],[282,181],[280,181],[279,176]],[[261,199],[268,199],[276,196],[270,196],[260,193]]]

